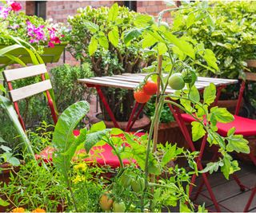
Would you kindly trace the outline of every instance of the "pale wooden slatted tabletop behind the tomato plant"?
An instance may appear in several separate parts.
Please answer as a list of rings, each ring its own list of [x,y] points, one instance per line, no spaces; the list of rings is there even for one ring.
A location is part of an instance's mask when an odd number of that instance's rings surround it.
[[[114,75],[111,77],[90,77],[84,79],[78,79],[78,82],[82,84],[99,85],[106,87],[114,87],[120,89],[135,89],[140,82],[146,77],[148,73],[123,73],[122,75]],[[214,85],[231,85],[237,83],[238,80],[213,78],[213,77],[198,77],[198,81],[195,82],[197,89],[204,89],[210,83]],[[174,93],[174,89],[167,87],[166,93]]]

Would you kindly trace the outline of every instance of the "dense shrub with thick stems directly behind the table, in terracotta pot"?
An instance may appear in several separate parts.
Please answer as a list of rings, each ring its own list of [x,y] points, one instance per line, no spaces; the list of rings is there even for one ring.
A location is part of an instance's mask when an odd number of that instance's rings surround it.
[[[136,39],[129,46],[122,40],[124,32],[139,22],[135,19],[137,15],[117,3],[111,8],[87,6],[78,9],[78,14],[68,19],[72,27],[67,35],[70,53],[81,62],[90,61],[96,77],[141,72],[151,60],[144,55],[141,40]],[[149,21],[152,22],[152,18]],[[128,120],[134,105],[132,92],[110,88],[102,88],[102,92],[114,116],[120,121]],[[103,119],[110,120],[102,103],[101,109]]]

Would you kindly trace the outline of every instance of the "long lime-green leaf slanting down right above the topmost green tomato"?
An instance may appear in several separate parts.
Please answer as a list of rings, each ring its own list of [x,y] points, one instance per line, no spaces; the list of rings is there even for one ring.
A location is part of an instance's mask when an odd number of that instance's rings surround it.
[[[184,41],[182,38],[178,38],[171,33],[166,33],[165,36],[171,43],[176,45],[178,49],[180,49],[187,56],[191,57],[192,59],[195,58],[193,45],[191,45],[189,42]]]

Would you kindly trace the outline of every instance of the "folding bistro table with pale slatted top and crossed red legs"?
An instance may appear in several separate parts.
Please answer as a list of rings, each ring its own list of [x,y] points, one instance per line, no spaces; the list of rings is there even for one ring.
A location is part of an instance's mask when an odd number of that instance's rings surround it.
[[[114,75],[111,77],[90,77],[90,78],[85,78],[85,79],[78,79],[78,82],[86,85],[87,87],[90,88],[95,88],[98,92],[99,98],[102,100],[103,105],[106,107],[106,111],[110,115],[110,119],[113,121],[114,126],[118,128],[118,122],[116,121],[113,112],[111,111],[110,106],[108,105],[108,102],[106,100],[106,97],[104,97],[101,87],[112,87],[112,88],[117,88],[117,89],[135,89],[140,82],[143,81],[143,79],[146,77],[148,73],[123,73],[122,75]],[[206,86],[210,85],[210,83],[213,83],[216,86],[217,89],[217,94],[216,94],[216,99],[214,101],[214,105],[217,105],[218,98],[220,97],[221,91],[223,88],[225,88],[227,85],[232,85],[238,83],[238,80],[230,80],[230,79],[223,79],[223,78],[213,78],[213,77],[198,77],[198,81],[195,82],[196,88],[202,92],[203,89],[206,88]],[[170,89],[168,86],[166,89],[166,94],[174,93],[174,89]],[[142,112],[142,109],[145,104],[138,105],[136,102],[134,105],[134,108],[130,114],[130,119],[128,120],[127,126],[126,126],[126,132],[129,132],[130,129],[132,128],[134,122],[137,120],[139,114]],[[188,132],[186,125],[184,124],[184,120],[182,120],[181,113],[179,112],[177,107],[173,107],[169,105],[171,112],[174,114],[174,118],[177,121],[179,127],[182,130],[182,134],[185,136],[187,143],[189,144],[190,150],[192,152],[196,151],[194,147],[194,143],[190,138],[190,133]],[[136,112],[138,111],[138,112]],[[202,168],[202,163],[201,163],[201,157],[202,153],[205,148],[205,143],[206,143],[206,137],[204,140],[202,140],[202,145],[200,148],[200,154],[198,156],[197,164],[199,169]],[[194,185],[195,181],[195,175],[191,179],[191,185],[190,185],[190,193],[192,191],[192,187]],[[210,194],[210,199],[212,199],[214,203],[214,207],[216,208],[216,211],[220,211],[220,208],[218,207],[218,202],[215,198],[215,195],[212,191],[212,188],[210,187],[210,183],[207,179],[207,176],[205,173],[202,173],[202,179],[203,182],[206,184],[206,188],[209,191]],[[238,179],[234,176],[234,179],[238,181]],[[239,183],[238,183],[239,184]]]

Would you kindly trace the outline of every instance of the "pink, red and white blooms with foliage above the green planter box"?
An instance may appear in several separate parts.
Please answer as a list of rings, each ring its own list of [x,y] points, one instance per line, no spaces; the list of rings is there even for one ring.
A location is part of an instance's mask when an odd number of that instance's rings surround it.
[[[17,13],[22,9],[18,2],[7,1],[0,7],[0,43],[4,45],[12,44],[11,41],[1,35],[9,34],[21,37],[31,44],[37,44],[37,49],[43,49],[47,44],[54,47],[64,41],[62,32],[65,30],[62,24],[54,24],[51,20],[43,20],[37,16],[28,16],[23,12]]]

